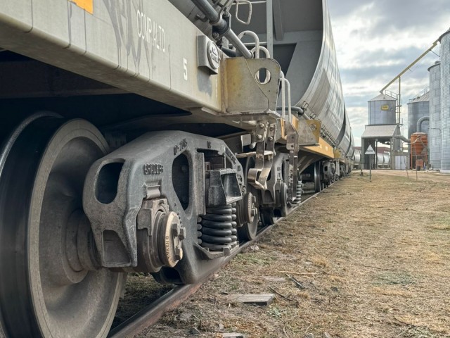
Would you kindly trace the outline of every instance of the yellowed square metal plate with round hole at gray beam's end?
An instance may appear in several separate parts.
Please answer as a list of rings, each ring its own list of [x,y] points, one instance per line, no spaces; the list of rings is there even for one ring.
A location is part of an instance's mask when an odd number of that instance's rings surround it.
[[[226,115],[239,115],[243,120],[276,112],[278,79],[281,67],[271,58],[226,58]],[[262,79],[263,74],[265,79]]]

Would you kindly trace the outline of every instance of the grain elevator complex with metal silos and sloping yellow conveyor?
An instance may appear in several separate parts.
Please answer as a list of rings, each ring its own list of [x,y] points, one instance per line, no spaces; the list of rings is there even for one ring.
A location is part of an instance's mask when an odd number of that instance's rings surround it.
[[[425,88],[408,104],[408,137],[402,135],[401,75],[417,63],[440,42],[440,61],[428,68],[430,87]],[[399,80],[399,94],[386,89]],[[404,153],[403,144],[408,144]],[[379,168],[383,158],[378,154],[378,144],[389,146],[390,168],[424,168],[440,170],[450,174],[450,29],[437,39],[432,46],[397,77],[389,82],[380,94],[368,101],[368,125],[361,136],[359,164],[369,168],[368,146],[375,149],[372,168]],[[355,156],[356,162],[356,156]],[[383,159],[383,163],[385,163]]]

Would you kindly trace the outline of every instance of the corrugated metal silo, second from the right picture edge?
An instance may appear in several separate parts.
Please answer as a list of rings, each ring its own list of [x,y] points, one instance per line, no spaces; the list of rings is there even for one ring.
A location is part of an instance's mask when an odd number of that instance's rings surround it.
[[[442,50],[442,46],[441,46]],[[436,61],[428,68],[430,72],[430,165],[432,169],[441,168],[441,63]]]

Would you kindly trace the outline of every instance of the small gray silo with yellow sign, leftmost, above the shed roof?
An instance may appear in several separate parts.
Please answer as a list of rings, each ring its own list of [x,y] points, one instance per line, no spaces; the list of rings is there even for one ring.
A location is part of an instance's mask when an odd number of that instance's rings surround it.
[[[387,94],[380,94],[368,101],[369,125],[395,125],[397,99]]]

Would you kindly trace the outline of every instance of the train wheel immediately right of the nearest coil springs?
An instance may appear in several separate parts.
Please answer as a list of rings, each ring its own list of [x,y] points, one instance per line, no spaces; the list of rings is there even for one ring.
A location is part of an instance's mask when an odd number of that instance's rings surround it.
[[[259,199],[257,189],[248,184],[247,174],[250,168],[255,166],[255,158],[249,157],[241,161],[247,182],[247,194],[238,204],[238,237],[240,240],[248,241],[256,237],[259,223]]]

